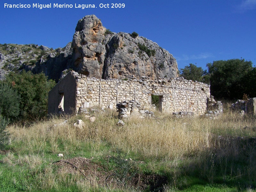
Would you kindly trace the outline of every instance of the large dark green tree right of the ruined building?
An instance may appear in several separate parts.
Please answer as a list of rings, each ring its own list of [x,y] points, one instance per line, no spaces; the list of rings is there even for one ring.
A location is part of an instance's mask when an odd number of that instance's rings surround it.
[[[211,94],[216,98],[240,99],[244,93],[248,94],[245,84],[253,70],[252,61],[242,58],[218,60],[206,66],[210,76]]]

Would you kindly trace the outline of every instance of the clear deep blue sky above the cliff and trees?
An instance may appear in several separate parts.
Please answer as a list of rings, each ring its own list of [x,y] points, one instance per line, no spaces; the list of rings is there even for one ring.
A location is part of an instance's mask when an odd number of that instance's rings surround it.
[[[31,8],[4,8],[4,3]],[[33,3],[51,3],[52,8],[32,8]],[[54,3],[73,8],[53,8]],[[101,3],[125,7],[100,8]],[[241,57],[256,65],[256,0],[3,0],[0,44],[64,47],[77,21],[90,14],[113,32],[135,31],[156,42],[176,58],[179,69],[189,63],[205,69],[208,62]]]

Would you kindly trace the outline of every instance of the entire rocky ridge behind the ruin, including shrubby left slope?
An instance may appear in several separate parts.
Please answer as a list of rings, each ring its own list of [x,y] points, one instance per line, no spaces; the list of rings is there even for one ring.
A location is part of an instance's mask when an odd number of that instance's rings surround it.
[[[11,55],[8,52],[10,46]],[[72,43],[64,48],[52,50],[33,44],[13,47],[13,44],[5,45],[2,46],[3,51],[0,49],[0,78],[10,70],[22,69],[34,73],[43,71],[56,81],[71,69],[103,79],[141,79],[148,76],[156,80],[178,76],[177,62],[169,52],[135,32],[112,33],[95,15],[78,21]]]

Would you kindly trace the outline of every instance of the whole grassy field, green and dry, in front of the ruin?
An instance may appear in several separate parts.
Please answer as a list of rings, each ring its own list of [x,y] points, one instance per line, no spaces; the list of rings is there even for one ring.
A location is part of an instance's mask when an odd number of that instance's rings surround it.
[[[256,191],[255,116],[156,112],[120,127],[116,111],[93,115],[93,123],[70,116],[8,126],[0,191]]]

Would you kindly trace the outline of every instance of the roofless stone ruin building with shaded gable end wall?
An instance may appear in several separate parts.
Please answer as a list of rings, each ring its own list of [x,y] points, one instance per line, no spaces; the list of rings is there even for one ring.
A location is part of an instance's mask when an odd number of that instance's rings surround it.
[[[49,92],[48,113],[78,114],[83,108],[95,106],[118,109],[124,101],[134,101],[140,104],[139,110],[147,109],[146,114],[151,114],[150,109],[154,108],[152,95],[158,97],[160,111],[194,116],[204,114],[209,105],[207,98],[212,98],[208,84],[186,80],[183,77],[159,78],[158,81],[145,76],[140,80],[104,80],[71,71]],[[131,112],[130,110],[127,114],[130,115]]]

